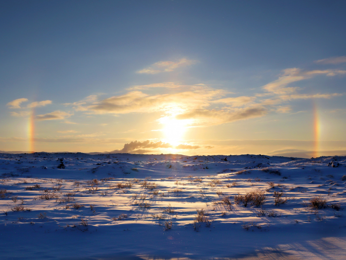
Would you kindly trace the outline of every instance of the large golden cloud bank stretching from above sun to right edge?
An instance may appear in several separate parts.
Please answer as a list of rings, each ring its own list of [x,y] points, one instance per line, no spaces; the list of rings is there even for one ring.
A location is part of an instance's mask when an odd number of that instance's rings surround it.
[[[332,98],[340,93],[300,94],[300,88],[290,84],[310,79],[317,75],[333,77],[345,75],[345,70],[311,70],[299,68],[283,70],[278,79],[262,87],[265,92],[253,96],[227,97],[234,94],[224,89],[216,89],[205,84],[180,85],[176,83],[157,83],[137,85],[129,92],[97,101],[93,96],[72,104],[76,111],[89,114],[127,114],[163,112],[166,116],[189,120],[190,126],[219,125],[238,120],[258,118],[270,112],[289,113],[288,102],[295,99]],[[167,94],[147,94],[146,90],[158,89]],[[173,92],[171,91],[173,90]]]

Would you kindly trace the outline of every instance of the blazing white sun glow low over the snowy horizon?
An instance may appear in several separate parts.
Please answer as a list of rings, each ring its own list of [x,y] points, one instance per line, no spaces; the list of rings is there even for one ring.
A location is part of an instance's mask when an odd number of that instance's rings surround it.
[[[165,141],[173,146],[181,144],[183,136],[186,132],[187,120],[177,120],[175,118],[161,118],[161,123],[164,125],[162,131]]]

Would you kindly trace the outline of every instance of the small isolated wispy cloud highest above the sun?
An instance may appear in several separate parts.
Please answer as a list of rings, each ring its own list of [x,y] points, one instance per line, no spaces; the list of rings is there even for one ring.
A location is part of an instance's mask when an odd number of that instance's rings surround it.
[[[171,72],[180,67],[190,66],[195,64],[196,61],[188,60],[186,58],[180,59],[179,61],[159,61],[152,64],[148,68],[144,68],[142,70],[137,71],[140,74],[157,74],[160,72]]]

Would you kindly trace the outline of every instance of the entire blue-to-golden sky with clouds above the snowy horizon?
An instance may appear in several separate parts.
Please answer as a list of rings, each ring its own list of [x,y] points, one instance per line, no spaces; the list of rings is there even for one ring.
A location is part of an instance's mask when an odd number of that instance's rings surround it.
[[[346,154],[344,1],[0,7],[0,150]]]

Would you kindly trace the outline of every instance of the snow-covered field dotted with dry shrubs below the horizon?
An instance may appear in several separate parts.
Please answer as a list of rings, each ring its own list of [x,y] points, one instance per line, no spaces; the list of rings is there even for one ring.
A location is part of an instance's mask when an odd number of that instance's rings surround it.
[[[0,154],[1,259],[346,259],[345,175],[338,156]]]

